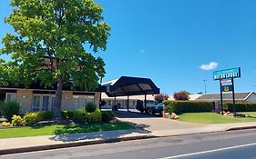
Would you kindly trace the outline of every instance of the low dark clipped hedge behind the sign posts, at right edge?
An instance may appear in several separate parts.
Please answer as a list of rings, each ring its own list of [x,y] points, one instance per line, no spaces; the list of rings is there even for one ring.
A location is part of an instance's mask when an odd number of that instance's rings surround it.
[[[256,112],[256,104],[236,104],[236,112]],[[225,103],[223,105],[224,111],[233,112],[233,104],[232,103]]]

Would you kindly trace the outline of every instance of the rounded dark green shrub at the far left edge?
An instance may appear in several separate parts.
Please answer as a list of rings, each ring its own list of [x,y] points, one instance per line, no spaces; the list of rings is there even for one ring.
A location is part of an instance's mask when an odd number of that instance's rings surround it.
[[[8,121],[12,121],[14,114],[19,114],[20,104],[16,101],[5,101],[0,103],[0,112]]]

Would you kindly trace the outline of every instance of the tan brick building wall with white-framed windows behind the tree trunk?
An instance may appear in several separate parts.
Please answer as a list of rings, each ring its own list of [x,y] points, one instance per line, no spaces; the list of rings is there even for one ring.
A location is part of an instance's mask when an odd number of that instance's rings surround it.
[[[16,100],[21,103],[21,114],[31,111],[55,109],[56,91],[43,88],[0,87],[0,101]],[[74,110],[84,107],[87,102],[99,104],[99,93],[85,91],[62,92],[62,110]]]

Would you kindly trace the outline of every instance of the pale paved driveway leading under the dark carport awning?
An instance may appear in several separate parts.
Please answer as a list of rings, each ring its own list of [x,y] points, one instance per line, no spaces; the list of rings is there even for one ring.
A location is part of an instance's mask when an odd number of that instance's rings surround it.
[[[177,129],[202,128],[207,124],[191,124],[176,120],[166,119],[157,115],[140,114],[136,112],[118,111],[117,117],[121,121],[138,124],[144,129],[153,131],[171,131]]]

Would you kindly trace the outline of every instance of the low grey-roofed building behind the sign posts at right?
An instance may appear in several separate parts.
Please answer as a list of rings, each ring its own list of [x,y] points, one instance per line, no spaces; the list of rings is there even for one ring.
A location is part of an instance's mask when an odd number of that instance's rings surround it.
[[[220,94],[202,94],[197,100],[211,102],[215,110],[220,110]],[[231,93],[223,94],[224,103],[231,103],[232,100]],[[235,101],[237,103],[256,103],[256,94],[254,92],[235,93]]]

